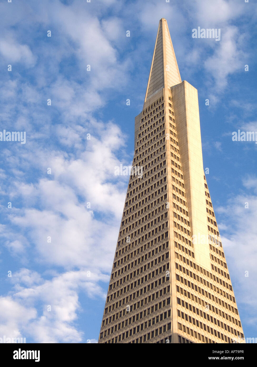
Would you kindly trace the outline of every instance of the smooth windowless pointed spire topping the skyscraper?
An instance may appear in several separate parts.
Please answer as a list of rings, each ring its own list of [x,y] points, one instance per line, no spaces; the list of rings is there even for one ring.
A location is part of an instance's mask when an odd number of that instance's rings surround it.
[[[181,81],[167,21],[161,18],[153,51],[145,101],[164,88],[164,85],[170,88],[181,83]]]

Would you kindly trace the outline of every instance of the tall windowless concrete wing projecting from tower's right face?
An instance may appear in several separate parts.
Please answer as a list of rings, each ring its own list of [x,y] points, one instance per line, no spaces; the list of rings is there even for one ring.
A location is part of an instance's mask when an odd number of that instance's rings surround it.
[[[196,239],[208,239],[197,90],[183,81],[171,92],[192,234]],[[198,263],[211,271],[209,241],[195,241],[194,249]]]

